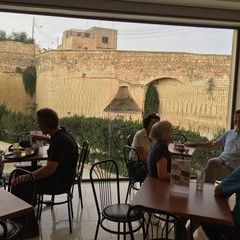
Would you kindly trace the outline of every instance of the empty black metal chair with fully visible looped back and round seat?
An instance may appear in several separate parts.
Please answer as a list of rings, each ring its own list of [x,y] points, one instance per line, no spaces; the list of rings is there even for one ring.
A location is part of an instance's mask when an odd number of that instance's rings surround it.
[[[98,213],[94,239],[97,239],[99,226],[109,233],[117,234],[118,239],[120,239],[121,235],[126,239],[126,235],[129,234],[126,227],[130,205],[120,203],[117,164],[112,160],[95,163],[90,170],[90,181]],[[139,215],[132,214],[129,216],[129,221],[137,221],[139,218]],[[111,224],[112,227],[110,227],[107,222],[116,223],[116,226]],[[138,231],[140,227],[135,228],[133,231]]]

